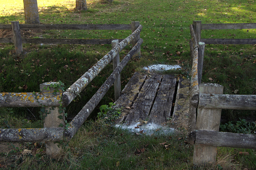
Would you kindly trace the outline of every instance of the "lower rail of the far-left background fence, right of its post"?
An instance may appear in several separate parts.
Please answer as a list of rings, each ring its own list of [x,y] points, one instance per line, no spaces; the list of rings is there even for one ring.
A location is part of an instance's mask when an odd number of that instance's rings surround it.
[[[111,44],[115,39],[44,39],[22,38],[22,43],[32,44]],[[124,39],[118,39],[122,41]]]

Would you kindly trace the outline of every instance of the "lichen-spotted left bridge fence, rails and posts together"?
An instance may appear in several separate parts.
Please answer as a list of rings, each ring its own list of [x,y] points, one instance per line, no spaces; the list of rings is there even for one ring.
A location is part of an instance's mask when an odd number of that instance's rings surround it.
[[[44,107],[46,109],[44,128],[0,129],[0,142],[44,141],[46,142],[46,153],[54,154],[60,152],[58,144],[54,142],[70,141],[113,83],[115,99],[118,98],[121,92],[120,72],[134,54],[140,55],[140,45],[143,42],[143,40],[140,39],[142,25],[140,25],[139,22],[132,22],[131,27],[131,35],[120,43],[118,43],[118,40],[112,41],[112,50],[76,80],[66,91],[62,92],[60,84],[56,82],[46,82],[40,84],[40,92],[0,93],[0,107]],[[130,43],[132,43],[132,49],[119,63],[119,52]],[[63,108],[68,106],[112,60],[114,68],[112,74],[74,119],[65,125]],[[63,117],[63,119],[60,117]],[[62,123],[64,127],[59,127],[60,123]]]

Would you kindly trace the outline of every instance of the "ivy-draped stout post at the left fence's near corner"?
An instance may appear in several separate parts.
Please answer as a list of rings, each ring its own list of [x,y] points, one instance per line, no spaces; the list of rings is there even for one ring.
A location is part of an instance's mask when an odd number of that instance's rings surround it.
[[[58,84],[58,82],[46,82],[40,84],[40,91],[42,92],[42,95],[53,97],[56,96],[56,94],[62,93],[62,90],[52,86],[54,84]],[[44,127],[59,127],[60,123],[64,125],[64,112],[59,107],[45,107],[45,115]],[[46,142],[47,154],[57,154],[60,150],[61,147],[58,147],[58,143]]]

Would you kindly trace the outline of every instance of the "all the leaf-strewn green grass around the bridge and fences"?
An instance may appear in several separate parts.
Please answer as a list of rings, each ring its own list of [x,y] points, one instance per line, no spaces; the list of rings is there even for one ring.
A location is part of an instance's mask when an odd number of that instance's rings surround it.
[[[0,23],[25,23],[22,0],[0,0],[0,3],[3,4],[0,6]],[[129,24],[131,21],[140,21],[143,25],[140,37],[144,39],[141,57],[133,58],[124,68],[121,73],[122,88],[135,71],[142,71],[141,68],[149,64],[180,64],[181,70],[168,71],[166,74],[190,78],[188,42],[189,25],[193,20],[201,20],[202,23],[247,23],[256,20],[256,4],[252,0],[114,0],[113,4],[103,0],[88,0],[87,3],[89,10],[78,12],[74,10],[74,0],[38,1],[40,22]],[[24,36],[32,35],[37,38],[121,39],[126,38],[131,31],[44,30],[23,33]],[[202,38],[255,38],[255,35],[255,29],[202,31]],[[24,44],[23,48],[26,55],[15,55],[14,45],[0,44],[0,92],[39,92],[39,84],[42,82],[59,80],[68,88],[108,53],[111,45]],[[120,58],[129,50],[130,46],[126,47],[120,53]],[[92,97],[111,70],[112,66],[107,66],[80,97],[66,108],[70,118]],[[255,94],[255,78],[255,45],[206,45],[202,82],[221,84],[225,94]],[[24,85],[28,88],[22,88]],[[114,92],[110,89],[99,106],[108,104],[113,99]],[[98,107],[95,113],[99,111]],[[1,108],[0,111],[1,127],[42,127],[42,121],[38,121],[39,108]],[[254,113],[255,111],[243,112],[242,119],[252,119]],[[241,115],[241,111],[223,111],[223,115],[228,121],[234,121]],[[87,122],[60,156],[47,156],[43,143],[36,146],[26,143],[22,147],[12,148],[12,152],[2,153],[1,156],[10,169],[89,169],[92,165],[96,169],[192,169],[193,149],[184,141],[186,137],[183,133],[159,137],[131,135],[121,129]],[[170,149],[159,145],[160,143],[171,144]],[[145,152],[134,154],[143,147]],[[20,155],[24,149],[34,151],[32,154]],[[248,152],[249,155],[241,155],[239,152]],[[256,166],[255,160],[255,150],[218,148],[217,162],[208,169],[253,169]]]

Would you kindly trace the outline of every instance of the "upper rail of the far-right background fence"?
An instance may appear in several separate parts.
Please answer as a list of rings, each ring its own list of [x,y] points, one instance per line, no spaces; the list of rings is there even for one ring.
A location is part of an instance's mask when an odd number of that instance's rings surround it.
[[[202,29],[255,29],[255,28],[256,28],[256,23],[205,23],[205,24],[202,24]]]

